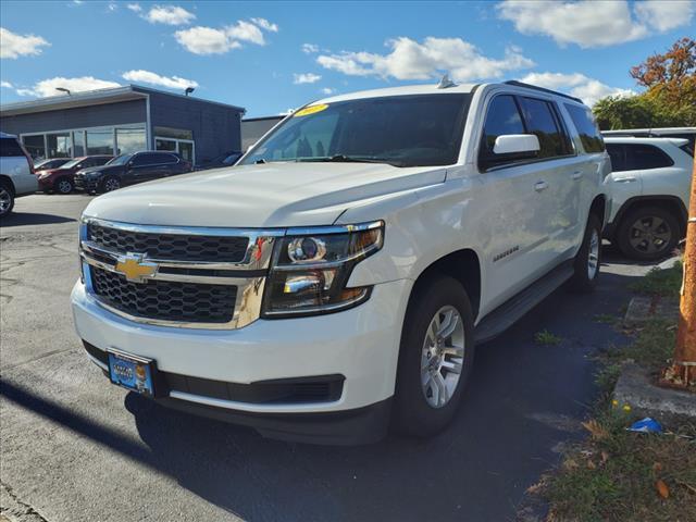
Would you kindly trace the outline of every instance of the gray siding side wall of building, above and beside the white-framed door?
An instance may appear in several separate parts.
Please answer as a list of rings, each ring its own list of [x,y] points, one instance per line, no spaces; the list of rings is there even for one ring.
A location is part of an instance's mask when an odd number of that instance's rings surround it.
[[[241,150],[241,112],[188,97],[150,94],[150,123],[154,127],[185,128],[194,132],[196,163],[227,151]]]

